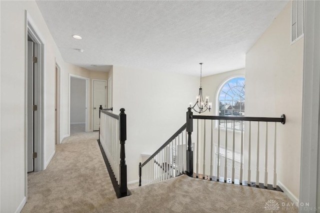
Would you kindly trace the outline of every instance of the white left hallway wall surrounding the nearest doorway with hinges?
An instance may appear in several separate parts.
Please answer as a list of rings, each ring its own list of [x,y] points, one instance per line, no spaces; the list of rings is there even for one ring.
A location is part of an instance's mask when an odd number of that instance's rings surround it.
[[[25,201],[25,10],[45,43],[44,160],[55,150],[54,68],[64,62],[35,1],[1,1],[0,212],[19,210]],[[63,71],[63,66],[61,67]]]

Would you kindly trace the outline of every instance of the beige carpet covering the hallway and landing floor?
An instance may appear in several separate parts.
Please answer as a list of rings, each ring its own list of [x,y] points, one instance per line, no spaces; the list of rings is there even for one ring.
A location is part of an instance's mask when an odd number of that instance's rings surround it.
[[[132,188],[132,195],[117,199],[97,138],[97,132],[78,132],[56,145],[47,168],[28,174],[28,201],[22,212],[298,211],[296,207],[282,207],[290,200],[279,191],[186,175]],[[269,200],[274,204],[265,209]]]

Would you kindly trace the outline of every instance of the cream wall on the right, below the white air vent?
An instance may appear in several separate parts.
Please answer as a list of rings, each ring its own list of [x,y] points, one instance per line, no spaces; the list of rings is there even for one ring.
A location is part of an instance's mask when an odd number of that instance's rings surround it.
[[[246,116],[286,115],[278,124],[277,174],[299,197],[303,38],[290,45],[291,2],[246,53]]]

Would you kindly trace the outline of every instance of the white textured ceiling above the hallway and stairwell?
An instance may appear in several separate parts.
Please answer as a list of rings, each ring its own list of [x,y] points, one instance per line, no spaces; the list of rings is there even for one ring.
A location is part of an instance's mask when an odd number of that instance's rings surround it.
[[[204,76],[243,68],[245,53],[286,3],[37,1],[66,62],[100,71],[121,65],[190,75],[199,75],[203,62]]]

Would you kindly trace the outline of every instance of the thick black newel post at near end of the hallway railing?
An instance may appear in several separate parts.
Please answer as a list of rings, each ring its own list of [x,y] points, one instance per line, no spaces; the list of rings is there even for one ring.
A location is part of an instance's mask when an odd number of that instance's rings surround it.
[[[119,114],[119,139],[120,139],[120,194],[126,195],[126,164],[124,143],[126,140],[126,114],[124,108],[120,109]]]

